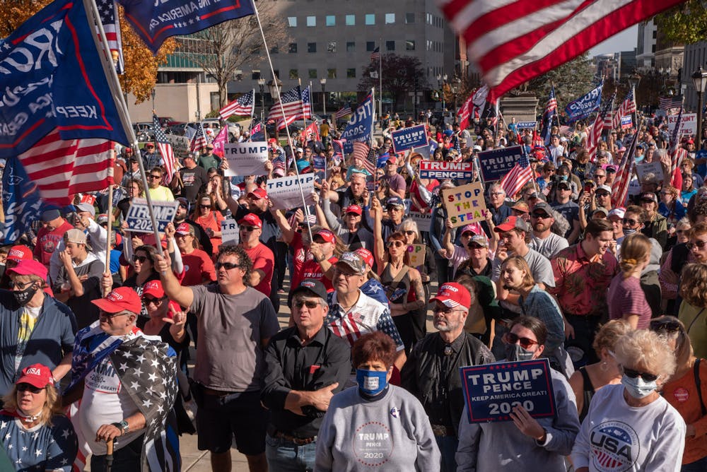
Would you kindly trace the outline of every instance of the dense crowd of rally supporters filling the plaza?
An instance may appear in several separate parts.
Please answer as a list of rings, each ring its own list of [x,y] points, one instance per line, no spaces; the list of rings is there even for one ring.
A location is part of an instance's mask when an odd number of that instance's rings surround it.
[[[327,122],[321,140],[269,139],[262,175],[226,177],[207,144],[170,179],[153,143],[126,148],[112,211],[76,195],[1,247],[0,439],[17,470],[89,455],[92,471],[179,470],[185,434],[214,471],[234,440],[251,471],[707,470],[701,140],[681,144],[677,188],[659,118],[609,130],[596,155],[581,122],[545,146],[515,119],[420,120],[419,152],[392,144],[414,119],[381,123],[380,167],[337,153]],[[482,182],[484,218],[455,226],[442,192],[514,145],[533,178],[513,195]],[[473,176],[426,179],[422,160]],[[310,172],[313,203],[277,209],[267,182]],[[158,237],[127,223],[146,192],[178,202]],[[537,359],[552,417],[469,422],[460,367]]]

